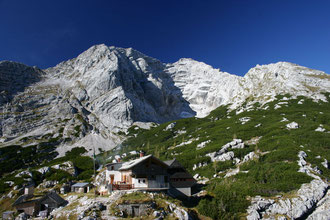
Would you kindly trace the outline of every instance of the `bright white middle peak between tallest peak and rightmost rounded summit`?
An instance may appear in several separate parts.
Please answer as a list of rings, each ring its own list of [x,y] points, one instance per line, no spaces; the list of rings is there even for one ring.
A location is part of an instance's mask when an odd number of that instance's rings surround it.
[[[196,111],[197,117],[205,117],[220,105],[244,99],[246,92],[242,77],[222,72],[192,59],[180,59],[167,64],[166,71],[173,78],[183,97]]]

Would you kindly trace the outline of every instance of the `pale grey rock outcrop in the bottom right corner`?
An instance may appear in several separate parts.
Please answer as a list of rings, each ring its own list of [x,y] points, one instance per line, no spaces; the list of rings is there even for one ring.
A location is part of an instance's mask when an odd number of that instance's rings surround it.
[[[247,213],[248,220],[272,219],[281,216],[286,219],[328,219],[329,212],[329,184],[314,174],[314,169],[307,164],[307,154],[298,154],[299,172],[304,172],[314,178],[310,183],[303,184],[290,198],[276,199],[254,197]]]

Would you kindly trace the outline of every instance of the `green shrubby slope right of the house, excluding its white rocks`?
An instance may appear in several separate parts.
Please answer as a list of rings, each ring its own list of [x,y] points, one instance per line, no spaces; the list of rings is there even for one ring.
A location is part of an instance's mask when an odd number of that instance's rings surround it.
[[[327,97],[330,102],[329,94]],[[304,100],[303,104],[298,104],[301,99]],[[213,218],[238,218],[244,215],[249,204],[246,199],[248,196],[274,196],[293,192],[302,183],[311,180],[309,176],[297,172],[297,154],[300,150],[307,153],[307,162],[312,163],[313,167],[318,166],[323,172],[323,178],[330,178],[329,170],[321,165],[324,159],[330,161],[330,134],[315,131],[320,124],[330,131],[330,104],[298,97],[286,101],[288,105],[282,104],[281,108],[274,109],[279,102],[285,102],[283,96],[278,96],[277,100],[262,108],[255,104],[251,111],[237,115],[236,111],[230,112],[226,107],[219,107],[206,118],[178,120],[170,130],[165,128],[171,122],[151,130],[131,128],[129,131],[132,137],[123,143],[120,153],[138,149],[163,160],[176,157],[191,173],[212,178],[215,171],[235,165],[230,161],[212,164],[205,154],[219,150],[233,138],[247,141],[253,137],[262,137],[256,145],[234,150],[235,157],[242,158],[250,151],[268,153],[241,165],[240,169],[248,173],[239,173],[226,179],[211,179],[207,186],[209,197],[198,205],[202,214]],[[266,106],[269,106],[268,109],[263,110]],[[239,119],[243,117],[251,119],[242,124]],[[283,117],[288,121],[281,122]],[[299,124],[299,128],[286,129],[286,124],[293,121]],[[255,127],[258,124],[261,126]],[[192,143],[175,147],[189,140]],[[196,149],[197,144],[207,140],[211,142],[206,147]],[[322,159],[315,158],[318,155]],[[200,162],[207,162],[208,165],[193,171],[193,165]]]

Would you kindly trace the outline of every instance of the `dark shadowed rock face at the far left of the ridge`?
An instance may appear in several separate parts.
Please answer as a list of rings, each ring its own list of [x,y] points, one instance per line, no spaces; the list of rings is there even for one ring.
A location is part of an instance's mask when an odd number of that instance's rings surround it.
[[[1,61],[0,62],[0,105],[9,102],[18,92],[42,78],[44,72],[36,67],[24,64]]]

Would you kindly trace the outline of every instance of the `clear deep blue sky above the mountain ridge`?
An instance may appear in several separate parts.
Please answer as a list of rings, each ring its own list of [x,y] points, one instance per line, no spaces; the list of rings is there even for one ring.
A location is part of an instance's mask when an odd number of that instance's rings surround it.
[[[237,75],[278,61],[330,73],[330,1],[0,0],[0,60],[47,68],[100,43]]]

